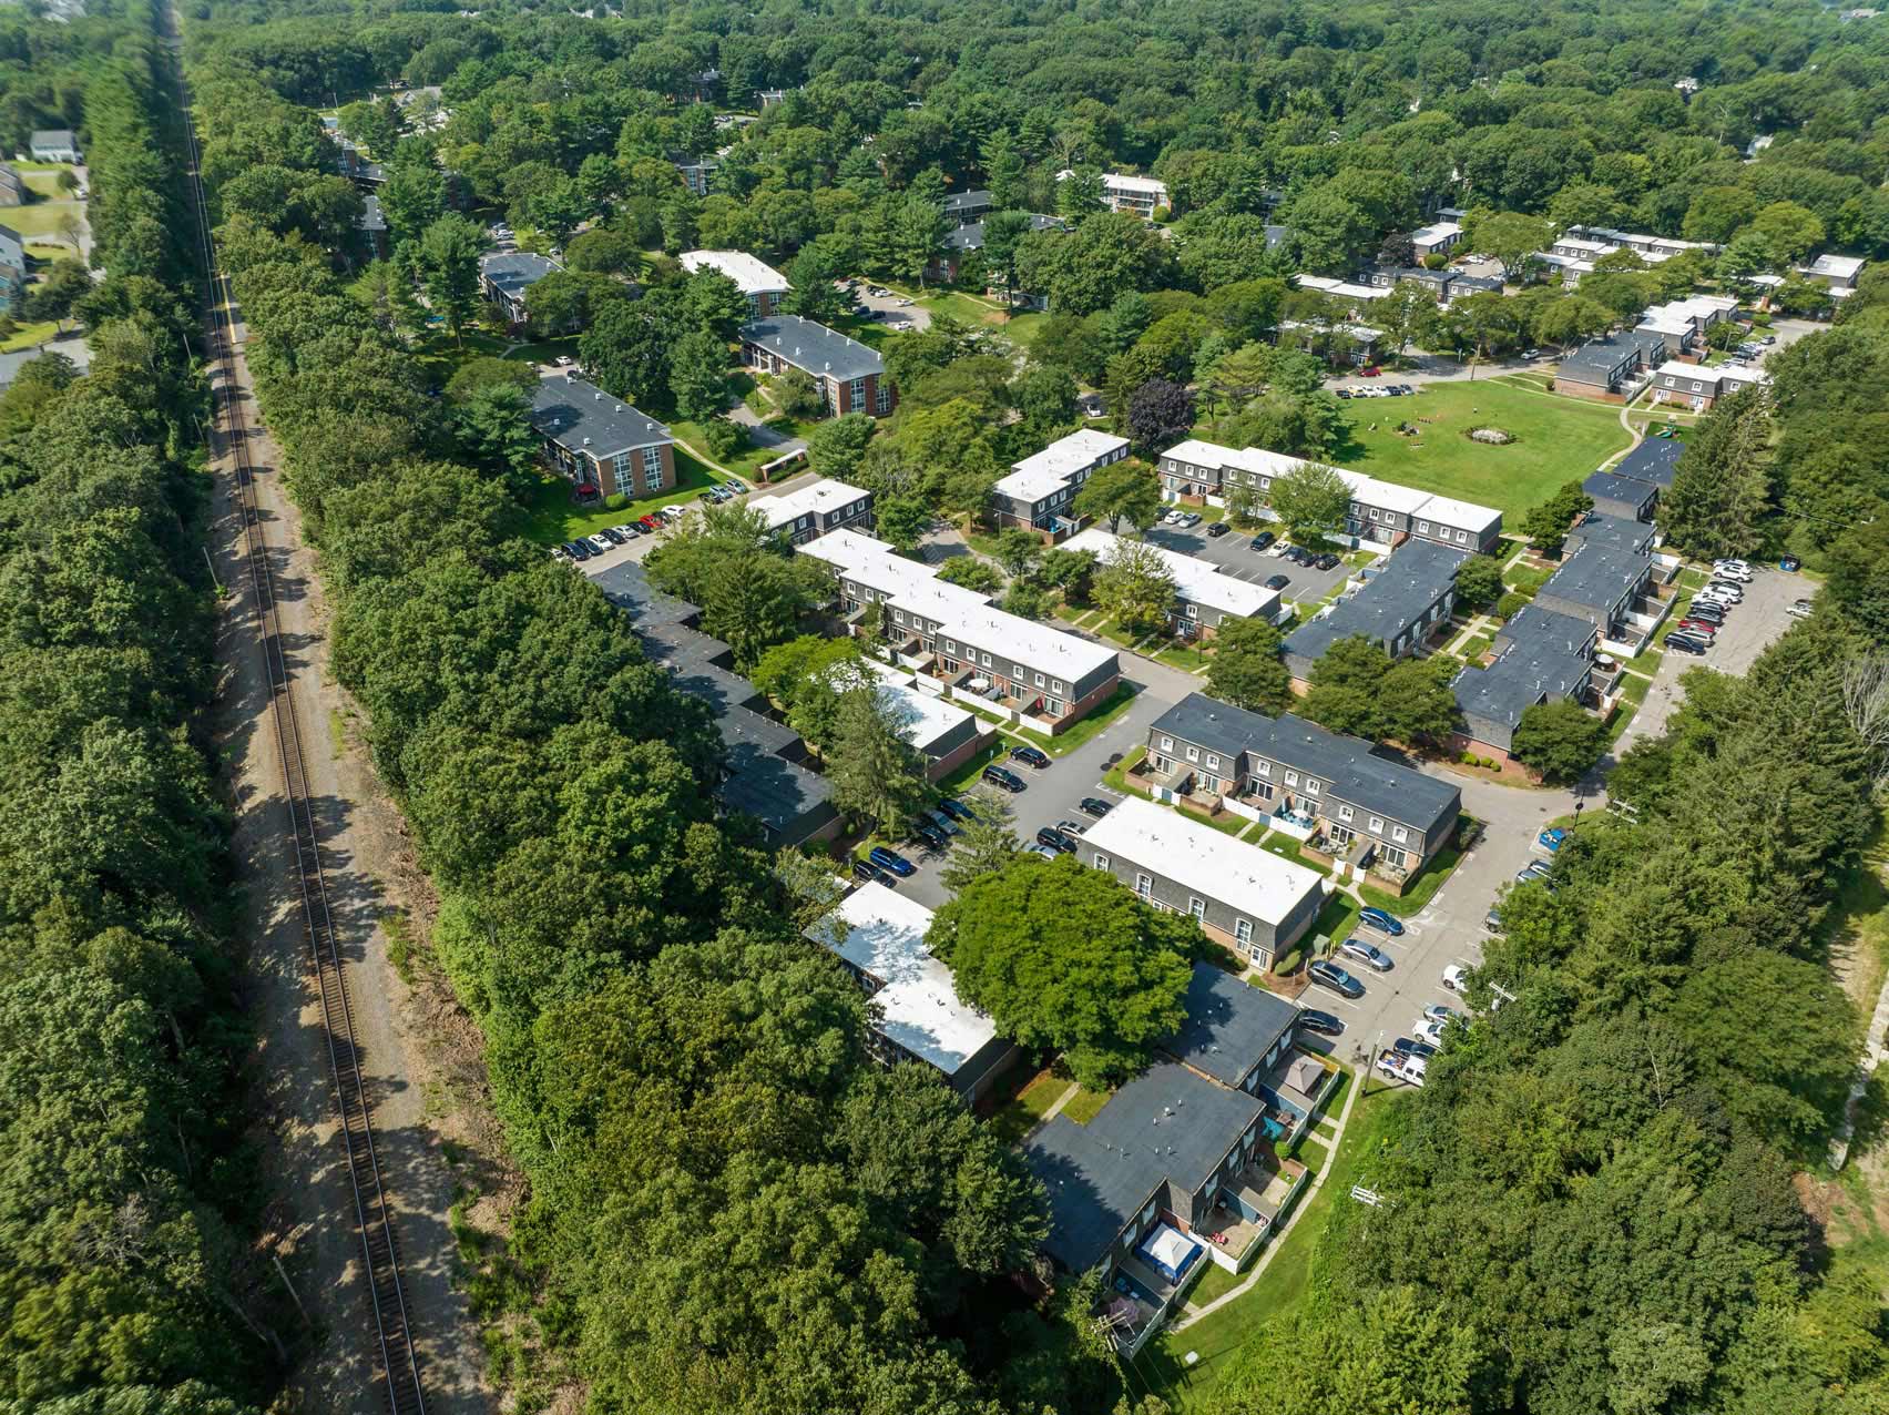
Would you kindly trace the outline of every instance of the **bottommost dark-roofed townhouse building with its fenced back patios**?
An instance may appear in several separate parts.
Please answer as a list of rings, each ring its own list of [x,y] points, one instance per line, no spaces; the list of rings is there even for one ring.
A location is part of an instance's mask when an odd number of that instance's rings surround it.
[[[1064,1273],[1101,1275],[1098,1315],[1124,1355],[1205,1264],[1249,1270],[1303,1192],[1305,1166],[1285,1156],[1337,1071],[1294,1048],[1298,1016],[1196,963],[1186,1022],[1154,1064],[1088,1124],[1058,1115],[1024,1141],[1050,1205],[1043,1251]]]

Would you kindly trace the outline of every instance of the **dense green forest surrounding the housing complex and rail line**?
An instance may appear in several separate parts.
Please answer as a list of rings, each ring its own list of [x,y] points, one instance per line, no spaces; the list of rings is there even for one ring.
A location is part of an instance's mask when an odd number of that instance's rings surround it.
[[[586,361],[620,395],[646,380],[665,414],[693,397],[672,351],[722,319],[674,253],[752,249],[818,317],[839,276],[924,281],[944,191],[1065,213],[1064,240],[1009,223],[973,272],[1050,297],[1028,348],[950,321],[892,338],[899,414],[816,450],[909,529],[979,504],[1073,423],[1079,384],[1143,452],[1198,418],[1328,452],[1343,419],[1319,349],[1273,344],[1317,312],[1288,276],[1345,270],[1445,202],[1489,247],[1572,223],[1723,246],[1689,280],[1889,255],[1885,30],[1781,0],[629,0],[606,19],[195,0],[183,21],[219,257],[338,606],[332,667],[438,888],[429,946],[482,1030],[525,1181],[510,1305],[482,1317],[506,1322],[493,1379],[527,1409],[567,1387],[652,1415],[1164,1402],[1088,1321],[1088,1285],[1039,1300],[1011,1281],[1041,1192],[922,1071],[871,1060],[865,999],[803,939],[805,873],[712,807],[703,707],[518,535],[529,448],[491,391],[502,370],[416,357],[444,344],[417,297],[442,321],[467,302],[461,212],[635,276],[633,297],[565,295],[604,300]],[[0,25],[8,145],[81,128],[102,266],[77,306],[89,374],[42,359],[0,397],[9,1411],[234,1415],[280,1394],[287,1358],[247,1243],[240,946],[206,752],[200,272],[153,25],[136,4]],[[716,104],[689,102],[708,68]],[[438,85],[450,117],[404,130],[374,94],[395,79]],[[784,96],[716,132],[716,108],[759,89]],[[387,166],[385,261],[315,108]],[[710,195],[689,193],[674,159],[723,144]],[[1173,208],[1086,210],[1120,168],[1166,179]],[[1411,332],[1547,340],[1676,280],[1602,274]],[[1812,555],[1817,614],[1745,678],[1693,671],[1668,731],[1615,771],[1632,818],[1589,822],[1553,890],[1504,901],[1472,1001],[1513,1001],[1398,1101],[1375,1175],[1398,1202],[1337,1211],[1309,1302],[1215,1390],[1226,1415],[1889,1407],[1880,1273],[1832,1256],[1793,1188],[1861,1033],[1827,946],[1880,829],[1885,742],[1847,690],[1889,639],[1878,276],[1776,355],[1768,401],[1702,421],[1674,487],[1685,548]],[[784,567],[759,578],[801,593]],[[742,623],[746,659],[793,642],[791,616]]]

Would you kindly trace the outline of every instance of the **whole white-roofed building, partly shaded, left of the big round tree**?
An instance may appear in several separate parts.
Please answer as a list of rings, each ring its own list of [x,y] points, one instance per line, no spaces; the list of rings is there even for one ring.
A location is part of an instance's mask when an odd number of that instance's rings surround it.
[[[861,884],[807,929],[831,948],[873,999],[882,1062],[922,1062],[963,1100],[982,1100],[1018,1048],[958,996],[950,969],[926,946],[931,911],[884,884]]]

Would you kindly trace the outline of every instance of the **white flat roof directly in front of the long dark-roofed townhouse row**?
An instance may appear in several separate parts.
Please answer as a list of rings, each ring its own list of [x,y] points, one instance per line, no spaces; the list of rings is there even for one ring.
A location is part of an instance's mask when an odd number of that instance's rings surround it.
[[[1130,795],[1088,827],[1077,860],[1126,860],[1160,871],[1203,899],[1218,899],[1235,914],[1277,926],[1307,897],[1324,892],[1324,877],[1281,860],[1271,850],[1241,844],[1213,826],[1179,810]]]

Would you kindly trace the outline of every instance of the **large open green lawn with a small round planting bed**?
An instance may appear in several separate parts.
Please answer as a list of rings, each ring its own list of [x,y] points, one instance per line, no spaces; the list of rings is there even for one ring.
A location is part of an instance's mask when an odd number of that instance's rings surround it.
[[[1511,521],[1626,442],[1619,408],[1483,380],[1426,384],[1415,399],[1353,402],[1349,416],[1347,442],[1332,455],[1341,467],[1498,506]],[[1415,423],[1422,436],[1400,436],[1398,421]],[[1475,427],[1500,427],[1515,442],[1470,442]]]

